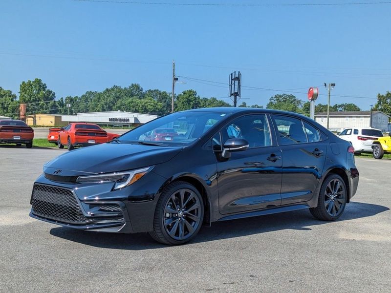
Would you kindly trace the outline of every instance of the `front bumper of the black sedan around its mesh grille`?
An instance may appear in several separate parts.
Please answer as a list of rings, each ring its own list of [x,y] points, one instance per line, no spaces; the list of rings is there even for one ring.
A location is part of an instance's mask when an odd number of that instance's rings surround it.
[[[166,179],[152,171],[147,175],[150,179],[140,180],[144,183],[136,182],[127,188],[115,191],[111,191],[113,183],[110,182],[102,184],[65,183],[49,180],[41,175],[35,182],[31,195],[30,216],[48,223],[79,230],[117,233],[152,231],[157,201],[155,195]],[[47,199],[37,197],[34,193],[36,186],[66,190],[74,205],[72,207],[65,206],[61,202],[62,195],[56,196],[55,192],[54,195],[50,193],[50,198]],[[147,190],[155,191],[147,192]],[[47,194],[47,192],[43,192],[39,196]],[[41,202],[37,204],[37,199],[45,201],[44,206],[39,205]],[[48,205],[50,205],[49,208],[47,208]],[[103,206],[117,208],[114,211],[108,211],[102,210]],[[66,215],[68,211],[74,213],[75,209],[79,212],[76,221]]]

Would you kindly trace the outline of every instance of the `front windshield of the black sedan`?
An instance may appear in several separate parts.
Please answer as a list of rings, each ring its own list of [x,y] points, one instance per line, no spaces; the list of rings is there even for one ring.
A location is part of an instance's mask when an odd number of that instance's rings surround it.
[[[178,112],[130,130],[115,141],[157,146],[185,146],[198,139],[202,133],[226,115],[216,112]]]

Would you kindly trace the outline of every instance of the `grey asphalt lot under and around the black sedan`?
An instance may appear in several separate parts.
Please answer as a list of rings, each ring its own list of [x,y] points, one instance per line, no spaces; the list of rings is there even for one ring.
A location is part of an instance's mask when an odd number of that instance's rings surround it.
[[[219,222],[168,247],[30,218],[35,178],[64,151],[0,147],[0,292],[391,292],[391,160],[356,159],[336,222],[307,210]]]

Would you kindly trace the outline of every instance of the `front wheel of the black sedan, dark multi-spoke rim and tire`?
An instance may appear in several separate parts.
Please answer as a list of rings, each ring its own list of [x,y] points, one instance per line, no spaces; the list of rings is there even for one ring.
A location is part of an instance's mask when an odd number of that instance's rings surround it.
[[[163,244],[184,244],[201,229],[203,218],[204,205],[198,190],[187,182],[176,181],[163,189],[149,234]]]

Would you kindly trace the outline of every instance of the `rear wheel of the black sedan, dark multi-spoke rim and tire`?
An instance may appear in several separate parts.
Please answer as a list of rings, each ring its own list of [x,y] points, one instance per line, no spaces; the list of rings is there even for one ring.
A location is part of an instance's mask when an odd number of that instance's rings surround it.
[[[344,212],[348,192],[344,180],[331,174],[323,182],[318,196],[318,206],[310,208],[311,214],[322,221],[334,221]]]

